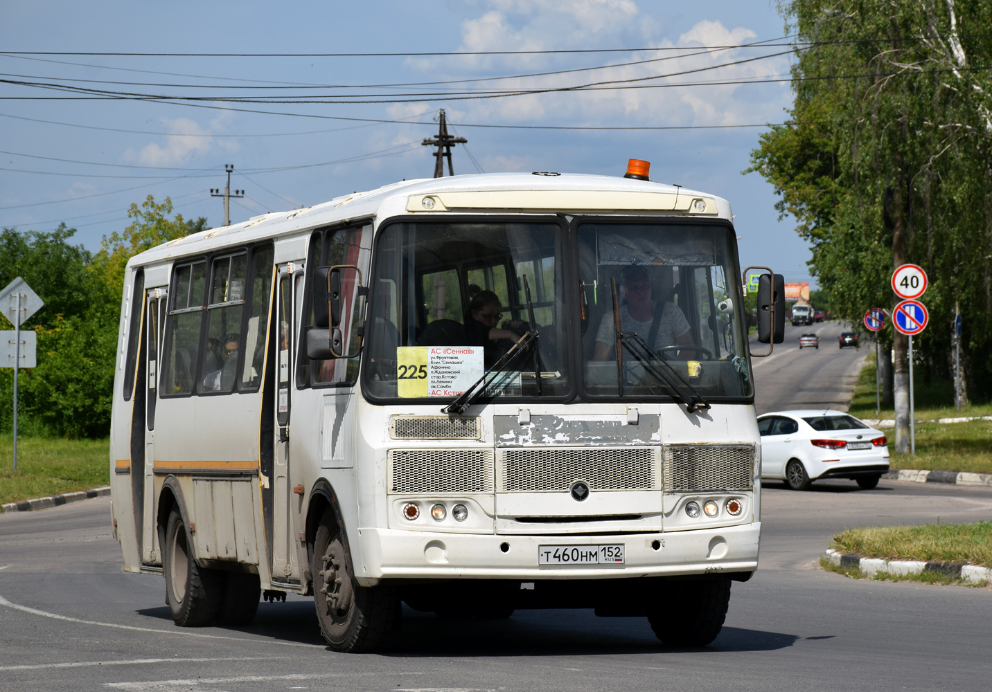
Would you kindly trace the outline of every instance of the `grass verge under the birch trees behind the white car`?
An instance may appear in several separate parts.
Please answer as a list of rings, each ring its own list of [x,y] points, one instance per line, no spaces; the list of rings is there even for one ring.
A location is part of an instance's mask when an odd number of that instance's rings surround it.
[[[917,379],[917,420],[992,415],[992,404],[968,404],[960,411],[954,409],[954,393],[949,381],[933,380],[930,385]],[[892,408],[875,412],[875,359],[861,370],[854,390],[850,413],[859,418],[893,419]],[[964,471],[992,473],[992,420],[972,420],[963,423],[923,422],[916,425],[917,454],[895,451],[894,429],[882,428],[889,437],[889,460],[893,469],[924,469],[933,471]]]

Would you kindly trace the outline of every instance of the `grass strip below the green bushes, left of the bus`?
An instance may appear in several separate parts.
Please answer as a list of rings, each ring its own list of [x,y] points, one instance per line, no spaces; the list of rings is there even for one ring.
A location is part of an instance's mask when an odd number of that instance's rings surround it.
[[[108,485],[109,440],[0,435],[0,505]]]

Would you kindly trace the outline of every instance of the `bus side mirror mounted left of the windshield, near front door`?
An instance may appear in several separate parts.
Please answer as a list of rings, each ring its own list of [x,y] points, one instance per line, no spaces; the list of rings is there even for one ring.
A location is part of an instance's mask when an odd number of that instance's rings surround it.
[[[307,331],[307,356],[314,360],[354,358],[361,353],[368,288],[354,265],[318,267],[313,273],[313,327]],[[357,309],[356,309],[357,308]],[[353,339],[348,335],[354,332]],[[347,343],[348,341],[353,343]]]

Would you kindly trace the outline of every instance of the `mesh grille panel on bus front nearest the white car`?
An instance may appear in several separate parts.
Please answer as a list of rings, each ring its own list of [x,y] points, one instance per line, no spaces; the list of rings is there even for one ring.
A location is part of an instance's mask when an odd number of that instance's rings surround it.
[[[665,447],[665,490],[745,491],[754,488],[754,446],[672,444]]]

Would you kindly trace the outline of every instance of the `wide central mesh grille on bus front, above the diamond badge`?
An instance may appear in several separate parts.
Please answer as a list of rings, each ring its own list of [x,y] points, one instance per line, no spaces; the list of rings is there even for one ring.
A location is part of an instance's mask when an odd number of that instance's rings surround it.
[[[567,493],[576,481],[592,491],[661,490],[661,463],[652,447],[528,447],[503,449],[501,493]]]

